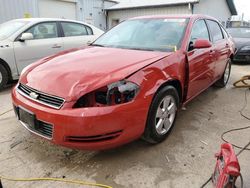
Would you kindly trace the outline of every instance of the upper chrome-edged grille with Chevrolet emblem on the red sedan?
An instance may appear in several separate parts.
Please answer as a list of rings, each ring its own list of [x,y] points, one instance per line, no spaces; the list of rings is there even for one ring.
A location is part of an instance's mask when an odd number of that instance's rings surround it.
[[[21,83],[17,89],[17,91],[25,97],[52,108],[60,109],[65,102],[63,98],[45,94]],[[32,94],[34,94],[35,97],[32,98]]]

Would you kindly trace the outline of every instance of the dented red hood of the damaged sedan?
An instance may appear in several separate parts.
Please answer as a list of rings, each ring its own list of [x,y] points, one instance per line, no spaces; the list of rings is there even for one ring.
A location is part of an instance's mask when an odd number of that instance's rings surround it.
[[[49,58],[27,71],[21,82],[38,91],[74,101],[169,54],[89,47]]]

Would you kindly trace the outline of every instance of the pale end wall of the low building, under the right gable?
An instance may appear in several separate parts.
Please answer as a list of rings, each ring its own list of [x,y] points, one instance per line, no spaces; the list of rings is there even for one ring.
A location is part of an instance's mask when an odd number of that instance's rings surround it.
[[[194,4],[194,14],[206,14],[225,23],[232,15],[226,0],[200,0]]]

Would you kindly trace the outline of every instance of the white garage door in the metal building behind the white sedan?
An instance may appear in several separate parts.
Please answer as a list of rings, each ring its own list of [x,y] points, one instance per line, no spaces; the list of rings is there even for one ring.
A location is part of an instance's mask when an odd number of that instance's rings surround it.
[[[74,0],[39,0],[39,15],[44,18],[76,19]]]

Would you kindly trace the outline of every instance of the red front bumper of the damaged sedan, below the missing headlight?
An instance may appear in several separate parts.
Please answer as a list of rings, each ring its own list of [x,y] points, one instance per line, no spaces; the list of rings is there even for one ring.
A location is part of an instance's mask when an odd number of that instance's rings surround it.
[[[30,111],[40,122],[53,126],[51,139],[25,126],[30,132],[58,145],[101,150],[126,144],[143,134],[151,97],[115,106],[79,109],[72,108],[74,102],[66,102],[57,110],[31,101],[14,88],[12,100],[15,107]]]

